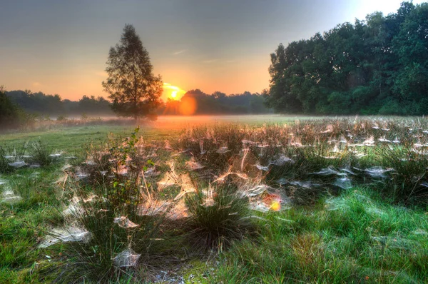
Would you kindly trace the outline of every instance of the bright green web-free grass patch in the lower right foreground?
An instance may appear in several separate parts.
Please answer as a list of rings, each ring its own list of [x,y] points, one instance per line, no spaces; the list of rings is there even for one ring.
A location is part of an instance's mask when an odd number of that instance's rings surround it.
[[[359,188],[263,215],[263,237],[223,255],[223,283],[424,283],[428,278],[426,212],[391,206]]]

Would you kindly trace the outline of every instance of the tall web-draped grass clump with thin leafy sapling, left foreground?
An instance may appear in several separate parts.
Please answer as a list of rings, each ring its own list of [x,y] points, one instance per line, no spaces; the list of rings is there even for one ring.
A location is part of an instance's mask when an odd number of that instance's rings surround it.
[[[112,138],[107,149],[90,148],[88,161],[80,169],[87,177],[68,183],[66,191],[73,199],[63,212],[63,230],[71,236],[76,228],[86,233],[85,238],[76,235],[78,241],[60,248],[73,261],[63,263],[58,281],[104,283],[124,273],[137,278],[142,267],[156,263],[165,247],[170,247],[163,240],[164,213],[141,208],[153,196],[144,176],[151,163],[141,160],[146,152],[138,150],[142,142],[137,132],[138,128],[129,138]],[[61,238],[56,230],[48,235]]]

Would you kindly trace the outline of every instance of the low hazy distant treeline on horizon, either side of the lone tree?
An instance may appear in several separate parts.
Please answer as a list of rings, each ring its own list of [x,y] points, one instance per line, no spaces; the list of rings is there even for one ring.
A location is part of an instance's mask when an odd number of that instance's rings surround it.
[[[16,106],[27,113],[38,113],[49,116],[81,115],[113,116],[111,102],[101,96],[83,96],[78,101],[61,99],[59,95],[49,95],[42,92],[6,91],[6,96]],[[227,96],[216,91],[213,94],[203,93],[199,89],[185,93],[183,98],[194,98],[197,104],[194,114],[243,114],[268,113],[269,108],[264,105],[265,98],[260,93],[248,91]],[[178,105],[180,100],[168,100],[158,108],[158,114],[180,114]]]

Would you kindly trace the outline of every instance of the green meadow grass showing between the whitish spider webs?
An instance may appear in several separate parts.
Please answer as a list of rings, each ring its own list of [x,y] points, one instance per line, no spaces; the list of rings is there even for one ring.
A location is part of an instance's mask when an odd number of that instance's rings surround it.
[[[168,270],[170,275],[164,280],[173,282],[172,279],[177,279],[173,278],[174,275],[182,277],[186,283],[427,282],[428,207],[424,199],[427,190],[421,183],[426,181],[428,165],[422,152],[412,150],[414,143],[427,143],[428,135],[421,136],[425,135],[422,130],[428,130],[427,119],[414,122],[413,125],[420,129],[411,135],[404,127],[406,123],[412,123],[409,119],[377,121],[391,129],[386,138],[392,140],[397,136],[402,143],[392,145],[392,149],[386,144],[359,148],[360,152],[367,154],[362,158],[357,158],[350,151],[352,149],[341,146],[342,154],[335,159],[322,156],[330,155],[335,146],[335,143],[327,142],[345,136],[345,130],[352,128],[355,133],[361,133],[362,140],[371,135],[379,139],[385,134],[373,129],[372,122],[364,120],[354,123],[352,120],[299,118],[300,121],[295,122],[294,117],[236,116],[222,118],[223,121],[205,121],[205,125],[199,122],[199,126],[190,131],[181,118],[168,119],[157,126],[142,126],[136,138],[143,136],[143,141],[138,142],[143,143],[143,147],[135,153],[131,148],[129,152],[133,167],[138,171],[150,168],[146,162],[151,159],[161,173],[147,177],[152,198],[166,201],[180,192],[179,185],[157,190],[157,182],[170,171],[175,171],[178,179],[188,175],[200,193],[228,169],[247,174],[249,180],[230,175],[224,178],[223,183],[213,183],[213,188],[223,185],[236,189],[247,186],[250,181],[279,188],[277,180],[281,178],[286,181],[310,180],[320,186],[308,189],[286,184],[279,190],[290,198],[291,203],[284,204],[283,211],[267,213],[247,211],[241,207],[248,203],[246,198],[238,199],[235,204],[233,198],[228,200],[230,194],[226,194],[224,200],[220,200],[223,195],[216,195],[213,198],[215,207],[203,205],[205,196],[188,193],[188,206],[193,218],[189,218],[188,223],[161,218],[160,226],[155,228],[147,219],[133,215],[132,210],[127,209],[129,206],[120,208],[114,199],[135,200],[131,195],[116,194],[114,190],[124,188],[132,192],[135,189],[133,184],[140,181],[138,176],[109,180],[99,175],[100,170],[110,171],[103,164],[106,161],[103,151],[113,145],[108,144],[106,148],[108,133],[128,136],[133,131],[132,126],[78,126],[3,134],[0,146],[9,152],[14,147],[17,152],[21,151],[21,146],[27,142],[29,151],[31,143],[41,141],[46,146],[42,149],[42,158],[51,152],[64,151],[63,156],[78,156],[79,159],[59,159],[41,168],[13,169],[5,166],[7,171],[0,173],[0,180],[7,181],[0,185],[0,194],[11,190],[22,198],[15,203],[0,202],[0,283],[49,283],[54,280],[96,283],[101,279],[105,283],[152,283],[159,279],[157,275],[163,275],[161,270]],[[268,122],[267,126],[263,126],[263,119]],[[224,120],[248,125],[225,125]],[[290,124],[284,127],[285,122]],[[320,134],[328,124],[332,124],[332,133]],[[302,144],[315,147],[273,146],[295,141],[291,133]],[[241,168],[243,139],[269,143],[270,146],[249,146],[245,166]],[[163,148],[165,140],[170,141],[173,151]],[[207,153],[200,153],[200,141],[203,141],[203,149]],[[115,145],[118,146],[118,151],[114,152],[117,155],[128,151],[123,150],[125,146]],[[218,153],[218,148],[223,146],[228,147],[228,152]],[[188,152],[174,155],[183,150]],[[422,150],[423,147],[417,148],[417,151]],[[268,171],[255,167],[256,163],[268,165],[280,155],[292,158],[294,163],[270,165]],[[96,161],[96,165],[81,165],[86,156]],[[402,158],[409,161],[402,161]],[[204,168],[189,172],[186,162],[190,160]],[[169,168],[170,161],[175,163],[174,170]],[[54,183],[64,176],[61,167],[66,162],[73,166],[67,170],[68,180]],[[83,181],[72,181],[76,166],[91,176]],[[346,190],[335,188],[332,186],[335,176],[313,174],[328,166],[333,166],[336,171],[342,167],[354,171],[355,176],[350,176],[353,187]],[[371,166],[390,167],[395,171],[386,173],[387,178],[377,179],[355,169],[364,170]],[[116,189],[113,188],[115,181],[119,182]],[[108,202],[93,206],[87,203],[89,213],[75,216],[96,236],[92,243],[59,243],[38,248],[51,228],[61,227],[70,221],[69,217],[61,214],[68,199],[73,195],[86,198],[92,193],[102,196],[106,190],[112,190],[110,197],[104,196]],[[116,204],[113,207],[112,202]],[[215,208],[217,210],[213,210]],[[227,208],[227,213],[222,215],[221,208]],[[111,213],[93,218],[96,215],[91,212],[99,209],[111,209]],[[241,209],[245,210],[241,212]],[[112,219],[125,213],[147,230],[136,230],[131,234],[121,231]],[[245,224],[240,227],[243,220]],[[248,220],[250,223],[246,223]],[[257,233],[247,233],[249,224]],[[220,228],[224,231],[220,232]],[[227,245],[219,242],[225,238]],[[130,239],[135,240],[136,252],[145,257],[136,269],[116,271],[112,268],[111,258],[126,247]],[[210,240],[208,243],[205,241],[210,250],[200,250],[200,246],[196,248],[194,244],[198,240]],[[136,244],[138,242],[140,245]],[[61,271],[67,274],[61,275]]]

